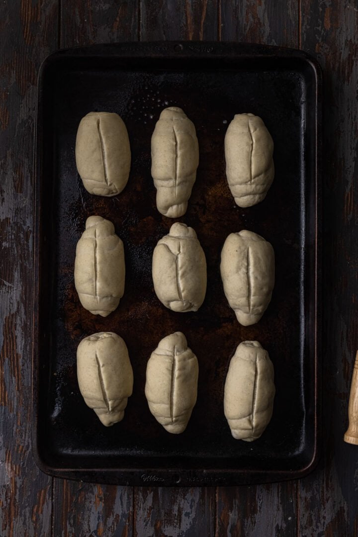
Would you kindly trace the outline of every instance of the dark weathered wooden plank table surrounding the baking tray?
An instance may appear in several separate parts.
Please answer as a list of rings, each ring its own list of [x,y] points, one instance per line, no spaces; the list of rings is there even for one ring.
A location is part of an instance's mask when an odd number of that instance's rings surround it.
[[[358,447],[342,437],[358,347],[358,2],[4,0],[0,4],[1,535],[358,535]],[[115,41],[225,40],[301,48],[324,72],[323,450],[300,481],[115,487],[51,478],[31,453],[36,76],[54,50]]]

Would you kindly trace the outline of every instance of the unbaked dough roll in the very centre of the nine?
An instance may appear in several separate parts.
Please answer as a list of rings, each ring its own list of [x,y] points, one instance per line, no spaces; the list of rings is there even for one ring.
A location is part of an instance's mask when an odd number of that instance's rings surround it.
[[[176,222],[153,252],[152,276],[160,302],[173,311],[197,311],[207,284],[206,259],[193,228]]]

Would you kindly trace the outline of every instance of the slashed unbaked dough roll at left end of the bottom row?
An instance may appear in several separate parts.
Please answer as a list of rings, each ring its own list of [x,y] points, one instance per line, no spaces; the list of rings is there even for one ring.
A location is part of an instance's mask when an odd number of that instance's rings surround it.
[[[123,419],[133,390],[133,371],[120,336],[98,332],[82,339],[77,348],[77,379],[86,405],[103,425]]]

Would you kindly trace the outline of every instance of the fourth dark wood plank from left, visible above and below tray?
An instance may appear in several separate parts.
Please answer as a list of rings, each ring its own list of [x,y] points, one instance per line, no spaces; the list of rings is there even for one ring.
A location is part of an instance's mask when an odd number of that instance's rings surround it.
[[[298,47],[298,2],[221,3],[222,41]],[[296,535],[295,482],[217,489],[216,535]]]

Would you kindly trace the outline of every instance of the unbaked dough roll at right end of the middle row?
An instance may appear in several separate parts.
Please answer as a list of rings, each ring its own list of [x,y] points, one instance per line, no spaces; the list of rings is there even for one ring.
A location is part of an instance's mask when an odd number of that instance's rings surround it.
[[[231,233],[221,252],[221,278],[230,307],[240,324],[257,323],[266,310],[275,283],[271,244],[252,231]]]

